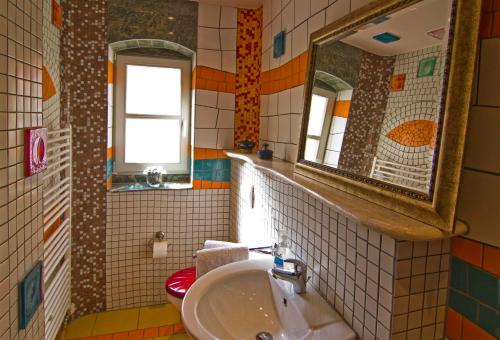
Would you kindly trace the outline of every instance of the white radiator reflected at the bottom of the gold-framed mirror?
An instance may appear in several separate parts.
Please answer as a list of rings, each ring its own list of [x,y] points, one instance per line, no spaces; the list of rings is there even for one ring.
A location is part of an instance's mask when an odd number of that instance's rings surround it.
[[[431,175],[432,171],[428,168],[384,161],[375,157],[370,177],[412,190],[428,191]]]

